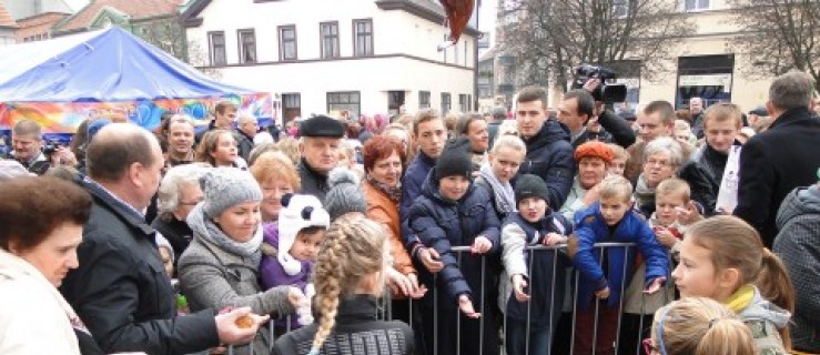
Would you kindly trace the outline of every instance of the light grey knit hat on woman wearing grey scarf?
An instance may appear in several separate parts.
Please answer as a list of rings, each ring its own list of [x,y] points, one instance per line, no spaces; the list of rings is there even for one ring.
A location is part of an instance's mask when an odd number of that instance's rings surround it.
[[[260,189],[253,175],[236,168],[216,168],[200,179],[200,187],[205,200],[202,212],[215,217],[231,206],[249,201],[262,201]]]

